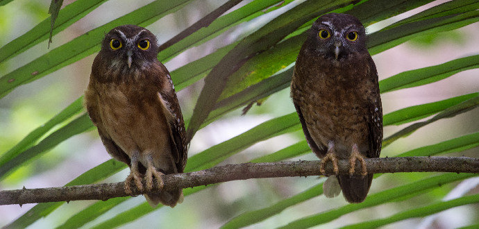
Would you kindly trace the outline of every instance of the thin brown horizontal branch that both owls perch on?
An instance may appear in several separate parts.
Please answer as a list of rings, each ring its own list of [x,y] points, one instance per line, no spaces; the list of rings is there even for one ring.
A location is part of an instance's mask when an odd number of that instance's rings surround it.
[[[360,171],[359,164],[356,163],[356,171]],[[371,173],[479,173],[479,158],[371,158],[366,160],[366,164],[368,171]],[[339,173],[348,173],[348,160],[339,160],[338,166]],[[332,164],[328,163],[326,165],[326,174],[321,174],[319,172],[319,161],[244,163],[228,164],[192,173],[170,174],[162,176],[162,179],[165,182],[165,189],[178,189],[251,178],[331,175],[332,171]],[[142,194],[138,190],[133,192],[135,195]],[[121,196],[128,196],[125,193],[124,183],[122,182],[41,189],[24,188],[0,191],[0,205],[79,200],[106,201],[109,198]]]

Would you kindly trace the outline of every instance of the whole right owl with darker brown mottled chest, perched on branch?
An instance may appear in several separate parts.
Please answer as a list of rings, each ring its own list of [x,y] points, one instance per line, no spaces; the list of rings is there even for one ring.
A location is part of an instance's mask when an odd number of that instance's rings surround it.
[[[366,48],[361,22],[346,14],[330,13],[317,19],[296,60],[291,96],[312,151],[326,162],[349,159],[350,175],[330,176],[324,183],[328,197],[339,194],[346,201],[364,201],[372,173],[364,157],[378,158],[383,139],[383,110],[378,73]],[[355,173],[355,163],[362,165]]]

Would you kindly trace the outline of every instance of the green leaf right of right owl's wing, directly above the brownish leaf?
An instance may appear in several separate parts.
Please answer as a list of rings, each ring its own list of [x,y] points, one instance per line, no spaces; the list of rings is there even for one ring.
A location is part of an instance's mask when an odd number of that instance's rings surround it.
[[[442,101],[437,101],[434,103],[413,105],[408,108],[396,110],[394,112],[384,115],[383,126],[397,126],[411,121],[417,121],[419,119],[429,117],[432,114],[436,114],[437,112],[440,112],[446,108],[450,108],[453,105],[457,105],[477,96],[479,96],[479,93],[464,94],[462,96],[444,99]]]

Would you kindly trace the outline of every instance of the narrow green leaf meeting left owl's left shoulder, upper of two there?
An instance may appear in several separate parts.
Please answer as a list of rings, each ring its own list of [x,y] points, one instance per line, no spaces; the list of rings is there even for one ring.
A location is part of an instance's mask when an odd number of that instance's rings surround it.
[[[51,128],[82,112],[82,103],[83,97],[76,99],[76,101],[70,104],[67,108],[63,109],[60,113],[56,114],[55,117],[47,121],[47,123],[37,127],[31,133],[26,135],[26,137],[24,137],[22,141],[13,146],[12,149],[7,151],[6,153],[2,153],[0,157],[0,167],[2,167],[3,164],[8,162],[15,156],[19,155],[19,153],[22,153],[22,151],[25,151],[28,147],[33,146],[37,142],[37,140],[43,137],[49,130],[51,130]]]

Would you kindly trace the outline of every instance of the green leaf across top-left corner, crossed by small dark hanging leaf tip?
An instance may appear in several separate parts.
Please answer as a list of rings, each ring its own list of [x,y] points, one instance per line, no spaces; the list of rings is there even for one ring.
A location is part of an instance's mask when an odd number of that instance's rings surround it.
[[[52,0],[52,3],[53,1],[55,0]],[[30,49],[35,44],[47,40],[49,37],[51,40],[51,35],[55,35],[74,24],[74,22],[85,17],[89,12],[92,12],[92,10],[101,6],[105,1],[106,0],[77,0],[68,4],[65,8],[60,10],[61,13],[56,18],[53,30],[51,30],[51,19],[44,19],[24,35],[17,37],[15,40],[8,42],[8,44],[1,47],[0,62],[17,56],[19,53]]]

